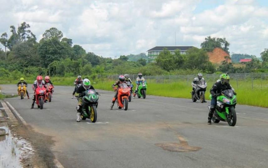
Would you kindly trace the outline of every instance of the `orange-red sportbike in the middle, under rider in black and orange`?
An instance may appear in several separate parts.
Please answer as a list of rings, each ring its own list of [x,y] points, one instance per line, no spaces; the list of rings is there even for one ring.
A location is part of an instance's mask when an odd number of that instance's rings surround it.
[[[117,96],[117,107],[124,108],[124,110],[128,110],[128,101],[130,95],[130,88],[126,83],[121,83],[118,88],[118,96]]]

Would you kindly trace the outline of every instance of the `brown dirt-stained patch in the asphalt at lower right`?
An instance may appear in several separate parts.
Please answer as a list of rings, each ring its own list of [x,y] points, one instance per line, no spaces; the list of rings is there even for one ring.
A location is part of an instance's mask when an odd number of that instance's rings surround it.
[[[178,136],[178,139],[180,143],[159,143],[155,145],[161,147],[163,150],[168,150],[171,152],[193,152],[202,149],[198,146],[190,146],[181,136]]]

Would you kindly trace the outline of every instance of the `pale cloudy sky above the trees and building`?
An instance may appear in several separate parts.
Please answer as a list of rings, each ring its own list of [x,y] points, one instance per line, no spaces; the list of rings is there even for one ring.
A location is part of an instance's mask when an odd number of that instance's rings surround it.
[[[268,48],[266,0],[0,0],[0,34],[22,22],[41,39],[56,27],[87,52],[138,54],[155,46],[196,46],[225,37],[230,52]],[[0,45],[3,48],[3,46]]]

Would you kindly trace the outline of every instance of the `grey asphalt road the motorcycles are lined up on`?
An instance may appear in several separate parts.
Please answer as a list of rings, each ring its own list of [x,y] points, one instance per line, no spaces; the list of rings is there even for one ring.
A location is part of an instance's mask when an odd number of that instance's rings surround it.
[[[16,93],[14,85],[1,87]],[[52,151],[66,168],[268,167],[267,108],[237,105],[235,127],[207,125],[208,103],[147,96],[127,111],[110,110],[114,93],[99,91],[97,123],[77,123],[73,88],[56,86],[43,110],[30,109],[31,99],[7,99],[36,131],[53,136]]]

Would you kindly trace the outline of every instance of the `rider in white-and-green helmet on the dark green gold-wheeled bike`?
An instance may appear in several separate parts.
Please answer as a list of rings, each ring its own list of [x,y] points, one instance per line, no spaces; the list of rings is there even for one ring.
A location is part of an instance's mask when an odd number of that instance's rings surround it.
[[[78,97],[78,106],[76,107],[76,110],[77,110],[77,113],[76,113],[76,122],[80,122],[81,110],[82,110],[82,108],[83,109],[86,108],[85,107],[86,106],[85,104],[83,104],[83,107],[82,107],[82,97],[85,96],[85,91],[86,90],[89,90],[89,89],[95,90],[94,87],[90,84],[90,80],[89,79],[84,79],[82,81],[82,85],[79,86],[76,89],[75,95]]]

